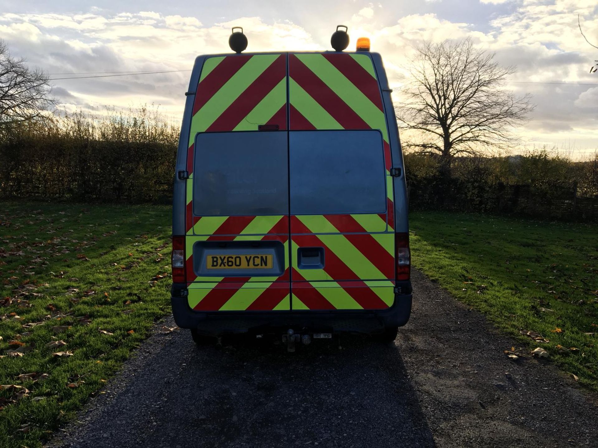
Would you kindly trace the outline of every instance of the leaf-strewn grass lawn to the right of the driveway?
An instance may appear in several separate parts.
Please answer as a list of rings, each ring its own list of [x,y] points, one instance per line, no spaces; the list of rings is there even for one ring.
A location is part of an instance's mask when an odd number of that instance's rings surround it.
[[[596,225],[419,212],[410,229],[416,268],[598,390]]]

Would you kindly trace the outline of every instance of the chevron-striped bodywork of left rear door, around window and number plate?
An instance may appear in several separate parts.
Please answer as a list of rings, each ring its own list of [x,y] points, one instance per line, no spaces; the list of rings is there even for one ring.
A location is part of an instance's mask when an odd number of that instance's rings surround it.
[[[203,63],[188,127],[185,194],[185,253],[188,305],[196,311],[290,309],[288,215],[210,216],[194,213],[194,165],[199,133],[257,131],[258,125],[287,128],[286,54],[208,57]],[[286,151],[286,147],[284,148]],[[199,155],[201,157],[201,155]],[[277,277],[236,274],[200,275],[206,272],[194,254],[206,244],[278,242],[285,265]],[[226,252],[224,252],[226,253]]]

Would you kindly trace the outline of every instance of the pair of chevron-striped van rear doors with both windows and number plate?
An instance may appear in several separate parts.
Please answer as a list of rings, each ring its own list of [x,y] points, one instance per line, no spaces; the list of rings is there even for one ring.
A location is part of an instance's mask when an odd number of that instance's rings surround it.
[[[190,308],[388,308],[389,169],[367,53],[205,59],[187,154]]]

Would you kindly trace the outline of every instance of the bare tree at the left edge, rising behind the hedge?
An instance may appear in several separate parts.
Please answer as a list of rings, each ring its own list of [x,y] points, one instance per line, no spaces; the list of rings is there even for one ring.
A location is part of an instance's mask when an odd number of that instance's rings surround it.
[[[0,126],[38,118],[56,101],[48,75],[15,59],[0,40]]]

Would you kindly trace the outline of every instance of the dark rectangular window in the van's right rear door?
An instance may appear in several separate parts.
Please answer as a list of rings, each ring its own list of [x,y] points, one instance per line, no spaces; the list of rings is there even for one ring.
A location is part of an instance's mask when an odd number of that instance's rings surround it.
[[[291,214],[385,213],[382,134],[291,131]]]

